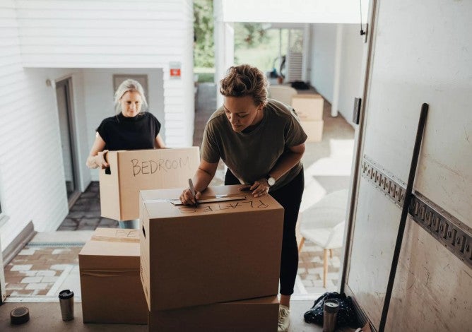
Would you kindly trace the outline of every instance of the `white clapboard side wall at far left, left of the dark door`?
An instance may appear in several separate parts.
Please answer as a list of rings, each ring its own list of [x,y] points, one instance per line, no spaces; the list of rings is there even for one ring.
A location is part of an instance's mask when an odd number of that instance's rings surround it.
[[[13,1],[1,2],[0,20],[0,199],[8,216],[0,228],[3,250],[30,220],[37,231],[53,230],[68,211],[55,89],[46,80],[72,72],[23,69]]]

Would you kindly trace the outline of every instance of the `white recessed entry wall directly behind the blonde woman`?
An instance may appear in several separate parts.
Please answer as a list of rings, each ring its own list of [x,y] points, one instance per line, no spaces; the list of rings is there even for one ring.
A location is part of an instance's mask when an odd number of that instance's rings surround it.
[[[95,141],[95,129],[106,117],[112,117],[114,112],[114,74],[146,74],[148,75],[149,112],[153,113],[162,124],[161,136],[165,138],[164,119],[164,87],[162,69],[83,69],[83,100],[85,118],[87,119],[87,152],[90,152]],[[166,142],[167,143],[167,142]],[[90,174],[90,172],[89,172]],[[98,181],[98,170],[92,170],[92,180]]]

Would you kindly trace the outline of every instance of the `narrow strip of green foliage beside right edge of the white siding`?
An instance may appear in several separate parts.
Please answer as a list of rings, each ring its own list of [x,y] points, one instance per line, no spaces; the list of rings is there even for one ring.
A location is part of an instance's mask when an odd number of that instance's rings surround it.
[[[194,66],[215,66],[213,0],[194,0]]]

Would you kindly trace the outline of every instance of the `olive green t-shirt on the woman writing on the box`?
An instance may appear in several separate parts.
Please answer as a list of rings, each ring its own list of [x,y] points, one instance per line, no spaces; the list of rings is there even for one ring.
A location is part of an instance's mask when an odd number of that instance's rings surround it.
[[[248,134],[231,128],[223,107],[214,112],[205,126],[201,143],[201,158],[206,162],[225,162],[242,184],[252,184],[266,177],[283,153],[307,139],[292,107],[269,99],[264,117]],[[298,162],[285,173],[270,191],[288,184],[302,169]]]

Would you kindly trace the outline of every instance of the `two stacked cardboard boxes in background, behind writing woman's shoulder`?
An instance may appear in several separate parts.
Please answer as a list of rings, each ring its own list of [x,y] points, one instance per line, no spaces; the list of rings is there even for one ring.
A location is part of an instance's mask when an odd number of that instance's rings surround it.
[[[307,134],[307,142],[319,142],[323,136],[323,105],[321,95],[303,94],[292,97],[292,106],[300,117],[300,123]]]

